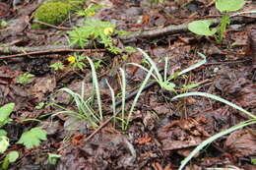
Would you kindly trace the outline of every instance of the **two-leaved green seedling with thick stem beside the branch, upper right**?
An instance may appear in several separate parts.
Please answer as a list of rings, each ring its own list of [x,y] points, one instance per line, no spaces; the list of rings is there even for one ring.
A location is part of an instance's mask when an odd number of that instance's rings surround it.
[[[195,21],[188,24],[188,29],[199,35],[215,36],[216,41],[221,43],[224,39],[226,27],[230,24],[230,15],[228,13],[241,9],[244,3],[244,0],[217,0],[216,8],[224,13],[221,24],[217,28],[210,28],[212,25],[211,20]]]

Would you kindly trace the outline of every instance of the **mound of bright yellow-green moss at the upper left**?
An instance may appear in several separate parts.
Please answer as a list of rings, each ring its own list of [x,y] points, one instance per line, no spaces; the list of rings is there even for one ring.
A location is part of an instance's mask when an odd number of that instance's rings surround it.
[[[65,2],[47,2],[42,4],[34,13],[33,20],[57,26],[66,19],[72,11],[72,5]],[[33,24],[32,28],[43,28]]]

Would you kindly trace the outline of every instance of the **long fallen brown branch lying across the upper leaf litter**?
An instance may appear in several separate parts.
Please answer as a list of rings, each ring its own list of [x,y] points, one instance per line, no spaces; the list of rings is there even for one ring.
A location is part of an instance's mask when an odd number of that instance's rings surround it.
[[[220,19],[213,19],[212,21],[213,21],[213,25],[218,25],[220,23]],[[255,20],[251,18],[233,17],[231,18],[231,23],[235,23],[235,24],[255,23]],[[152,38],[152,37],[158,37],[158,36],[168,35],[168,34],[173,34],[178,32],[186,32],[186,31],[188,31],[187,24],[182,24],[178,26],[171,25],[165,28],[155,28],[151,30],[135,31],[128,35],[121,36],[120,39],[125,43],[125,42],[135,41],[138,38]],[[104,49],[75,49],[74,47],[69,45],[49,45],[49,46],[38,46],[38,47],[2,46],[0,47],[0,53],[16,54],[16,55],[0,56],[0,59],[22,57],[22,56],[34,55],[34,54],[57,53],[57,52],[64,52],[64,51],[99,52],[99,51],[105,51],[105,50]]]

